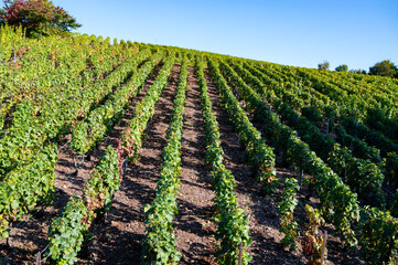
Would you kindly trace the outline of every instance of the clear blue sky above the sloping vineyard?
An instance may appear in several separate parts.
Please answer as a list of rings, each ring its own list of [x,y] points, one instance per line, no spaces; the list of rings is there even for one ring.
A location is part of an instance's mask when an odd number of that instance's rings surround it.
[[[398,65],[398,0],[53,0],[78,32],[267,62]]]

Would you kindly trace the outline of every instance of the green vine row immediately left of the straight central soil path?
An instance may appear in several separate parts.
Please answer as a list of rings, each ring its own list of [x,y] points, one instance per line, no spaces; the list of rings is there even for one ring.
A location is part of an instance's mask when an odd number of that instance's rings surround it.
[[[147,229],[142,240],[143,264],[178,264],[181,258],[175,246],[172,221],[178,212],[176,197],[181,187],[181,138],[187,73],[187,61],[183,61],[163,149],[157,197],[144,206]]]

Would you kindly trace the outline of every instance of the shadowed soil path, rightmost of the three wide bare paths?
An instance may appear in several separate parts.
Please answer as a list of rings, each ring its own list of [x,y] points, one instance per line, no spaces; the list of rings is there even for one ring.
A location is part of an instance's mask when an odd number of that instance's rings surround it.
[[[281,247],[282,236],[279,233],[276,203],[261,194],[260,186],[246,163],[245,149],[239,144],[239,136],[235,132],[228,115],[222,106],[218,89],[212,82],[208,70],[205,70],[204,74],[213,112],[219,126],[220,141],[225,153],[224,163],[235,177],[237,184],[235,193],[239,206],[249,215],[252,240],[249,248],[249,254],[252,256],[250,264],[303,264],[302,257]]]

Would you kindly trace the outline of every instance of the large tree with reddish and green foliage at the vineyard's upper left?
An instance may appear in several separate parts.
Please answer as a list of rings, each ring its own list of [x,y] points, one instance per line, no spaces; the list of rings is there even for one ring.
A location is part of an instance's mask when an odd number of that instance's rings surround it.
[[[60,34],[80,26],[50,0],[3,0],[0,24],[22,26],[28,36]]]

